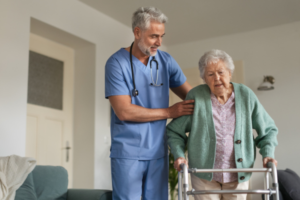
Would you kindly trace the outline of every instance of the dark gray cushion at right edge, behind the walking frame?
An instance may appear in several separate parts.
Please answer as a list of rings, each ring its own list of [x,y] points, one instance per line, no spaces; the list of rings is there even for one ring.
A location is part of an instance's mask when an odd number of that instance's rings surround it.
[[[284,200],[299,199],[300,177],[291,169],[277,170],[279,189]]]

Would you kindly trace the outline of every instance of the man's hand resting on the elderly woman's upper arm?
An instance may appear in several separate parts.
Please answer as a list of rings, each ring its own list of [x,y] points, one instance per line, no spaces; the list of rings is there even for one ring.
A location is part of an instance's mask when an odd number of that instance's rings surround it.
[[[193,102],[194,100],[184,100],[168,107],[168,118],[177,118],[182,115],[193,114],[194,105],[189,104]]]

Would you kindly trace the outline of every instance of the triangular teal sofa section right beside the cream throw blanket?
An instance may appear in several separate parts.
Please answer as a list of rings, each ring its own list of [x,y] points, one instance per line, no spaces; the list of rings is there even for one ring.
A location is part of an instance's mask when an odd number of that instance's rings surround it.
[[[14,200],[37,200],[32,172],[30,172],[23,184],[15,191]]]

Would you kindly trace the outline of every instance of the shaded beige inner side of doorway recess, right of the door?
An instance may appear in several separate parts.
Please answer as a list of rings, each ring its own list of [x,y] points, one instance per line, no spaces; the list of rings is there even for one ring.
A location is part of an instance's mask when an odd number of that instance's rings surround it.
[[[95,45],[75,49],[73,187],[94,185]],[[91,181],[92,180],[92,181]]]

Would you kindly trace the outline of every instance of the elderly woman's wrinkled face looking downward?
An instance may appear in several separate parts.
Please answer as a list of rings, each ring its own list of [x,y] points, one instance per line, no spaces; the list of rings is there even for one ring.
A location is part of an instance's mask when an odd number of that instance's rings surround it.
[[[211,92],[217,96],[222,96],[229,88],[231,73],[222,60],[212,63],[205,68],[204,80]]]

